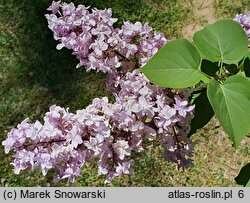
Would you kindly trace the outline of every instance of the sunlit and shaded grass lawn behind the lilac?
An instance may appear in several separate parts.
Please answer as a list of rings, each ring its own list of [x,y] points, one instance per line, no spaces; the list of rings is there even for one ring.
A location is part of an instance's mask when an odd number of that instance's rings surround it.
[[[70,1],[65,1],[70,2]],[[99,9],[111,7],[113,16],[141,21],[166,34],[181,36],[192,16],[192,0],[75,0],[75,4]],[[238,2],[238,3],[237,3]],[[240,4],[239,4],[240,2]],[[47,28],[44,14],[50,0],[0,0],[0,141],[24,118],[42,120],[52,104],[70,107],[74,112],[95,97],[106,96],[105,75],[75,69],[77,60],[70,51],[55,49],[56,42]],[[217,18],[233,17],[250,10],[249,0],[214,1]],[[192,137],[195,143],[194,166],[178,171],[162,158],[157,143],[145,144],[145,152],[135,158],[135,174],[117,178],[110,186],[234,186],[233,178],[250,161],[249,140],[234,151],[231,142],[213,119]],[[1,186],[69,186],[53,183],[53,172],[13,173],[12,154],[0,147]],[[96,164],[83,168],[83,176],[70,186],[103,186]]]

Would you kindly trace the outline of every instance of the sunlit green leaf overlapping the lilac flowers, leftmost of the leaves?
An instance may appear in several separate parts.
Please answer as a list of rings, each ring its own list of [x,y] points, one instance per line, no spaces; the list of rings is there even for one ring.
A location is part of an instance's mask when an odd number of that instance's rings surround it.
[[[153,83],[162,87],[185,88],[209,79],[199,70],[201,58],[186,39],[168,42],[141,68]]]

